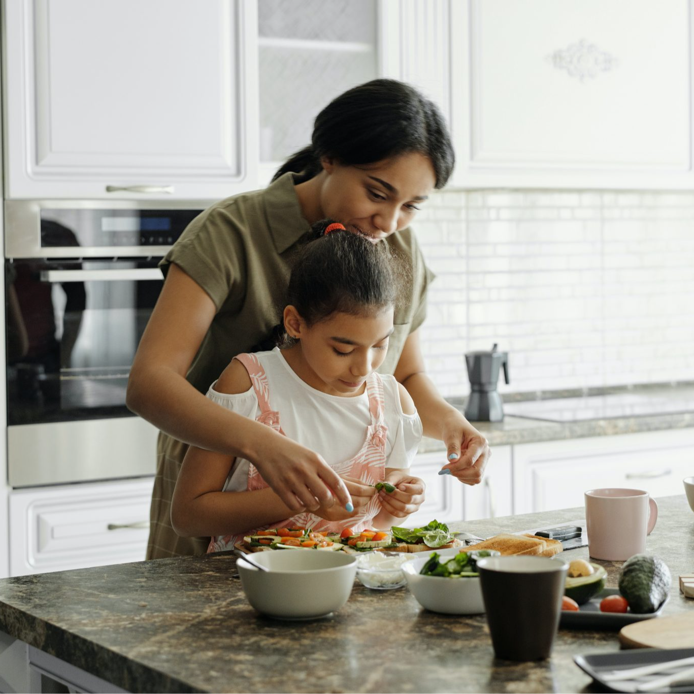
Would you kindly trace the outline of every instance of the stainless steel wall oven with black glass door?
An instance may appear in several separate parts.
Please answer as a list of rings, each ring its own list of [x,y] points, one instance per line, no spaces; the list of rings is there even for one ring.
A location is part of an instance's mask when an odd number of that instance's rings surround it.
[[[125,405],[162,287],[158,262],[204,204],[5,203],[10,486],[154,472]]]

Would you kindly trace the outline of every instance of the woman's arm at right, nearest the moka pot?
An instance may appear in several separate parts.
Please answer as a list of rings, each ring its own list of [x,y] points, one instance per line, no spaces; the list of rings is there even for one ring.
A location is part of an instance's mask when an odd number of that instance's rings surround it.
[[[489,443],[455,407],[443,400],[424,373],[418,330],[405,341],[395,377],[412,396],[422,420],[424,435],[446,444],[449,462],[439,474],[450,471],[448,474],[465,484],[479,484],[484,466],[491,456]]]

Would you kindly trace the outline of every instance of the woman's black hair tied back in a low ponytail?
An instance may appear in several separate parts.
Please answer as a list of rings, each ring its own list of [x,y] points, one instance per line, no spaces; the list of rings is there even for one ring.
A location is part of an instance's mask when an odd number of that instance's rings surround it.
[[[294,171],[308,180],[322,170],[321,158],[347,166],[373,164],[418,152],[434,167],[442,188],[455,162],[446,122],[437,105],[414,87],[378,79],[353,87],[316,116],[310,146],[292,155],[273,180]]]

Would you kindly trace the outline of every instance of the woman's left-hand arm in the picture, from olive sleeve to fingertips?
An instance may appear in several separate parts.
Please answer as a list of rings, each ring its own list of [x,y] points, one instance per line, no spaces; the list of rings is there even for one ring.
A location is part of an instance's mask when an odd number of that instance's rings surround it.
[[[321,456],[271,428],[205,398],[185,375],[217,308],[210,296],[175,264],[137,348],[126,405],[179,441],[244,457],[294,513],[343,507],[349,493]]]

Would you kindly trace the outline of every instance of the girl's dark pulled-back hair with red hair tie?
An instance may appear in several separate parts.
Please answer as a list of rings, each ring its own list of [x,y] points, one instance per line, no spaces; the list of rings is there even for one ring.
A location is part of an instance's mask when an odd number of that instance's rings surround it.
[[[325,219],[312,226],[315,240],[303,246],[289,277],[285,305],[294,306],[308,325],[336,312],[363,316],[394,306],[409,277],[387,244],[345,230],[325,234],[332,223]],[[272,337],[280,346],[292,344],[283,324]]]

